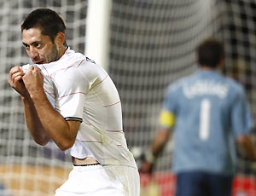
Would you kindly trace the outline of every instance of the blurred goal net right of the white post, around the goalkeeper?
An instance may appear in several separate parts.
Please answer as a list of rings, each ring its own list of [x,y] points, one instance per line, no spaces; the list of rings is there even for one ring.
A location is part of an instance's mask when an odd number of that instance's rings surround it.
[[[119,89],[125,135],[138,166],[158,129],[166,86],[195,71],[195,47],[205,37],[226,43],[224,73],[244,85],[255,119],[255,16],[253,0],[113,0],[108,72]],[[239,157],[233,195],[255,194],[254,170]],[[141,180],[142,195],[174,195],[172,141],[154,177]]]

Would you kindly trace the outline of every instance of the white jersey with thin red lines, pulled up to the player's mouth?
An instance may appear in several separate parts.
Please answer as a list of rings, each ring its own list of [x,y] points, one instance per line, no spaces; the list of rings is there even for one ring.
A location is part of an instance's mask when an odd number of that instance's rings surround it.
[[[81,122],[68,150],[73,157],[137,167],[127,148],[118,91],[102,66],[71,49],[58,61],[34,66],[44,74],[44,91],[55,110],[66,120]]]

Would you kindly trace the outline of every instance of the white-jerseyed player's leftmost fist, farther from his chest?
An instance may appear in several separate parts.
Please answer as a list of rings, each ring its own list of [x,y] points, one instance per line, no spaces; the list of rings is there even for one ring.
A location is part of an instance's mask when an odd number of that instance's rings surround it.
[[[22,71],[20,66],[14,66],[9,71],[9,85],[14,88],[21,96],[27,97],[29,96],[26,86],[23,83],[23,76],[25,75],[25,72]]]

